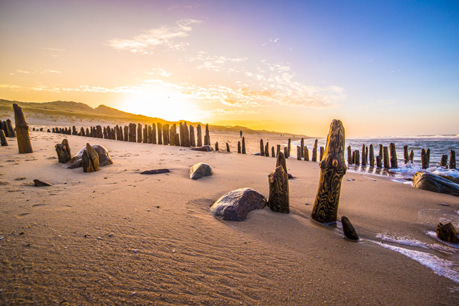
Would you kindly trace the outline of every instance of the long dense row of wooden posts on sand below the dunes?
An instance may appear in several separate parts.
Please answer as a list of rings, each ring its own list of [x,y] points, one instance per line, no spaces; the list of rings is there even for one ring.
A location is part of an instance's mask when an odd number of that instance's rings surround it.
[[[42,129],[40,129],[42,131]],[[112,140],[120,140],[127,142],[143,142],[149,144],[170,144],[171,146],[202,146],[201,125],[197,125],[197,133],[195,138],[195,128],[193,125],[188,125],[186,122],[173,125],[161,123],[153,123],[151,125],[142,126],[140,123],[130,123],[124,127],[116,125],[116,127],[86,127],[86,130],[81,127],[79,131],[75,125],[69,128],[53,127],[53,133],[63,133],[67,135],[86,136],[94,138],[105,138]],[[51,132],[48,129],[48,132]],[[209,125],[206,125],[206,133],[204,135],[204,145],[210,145]]]

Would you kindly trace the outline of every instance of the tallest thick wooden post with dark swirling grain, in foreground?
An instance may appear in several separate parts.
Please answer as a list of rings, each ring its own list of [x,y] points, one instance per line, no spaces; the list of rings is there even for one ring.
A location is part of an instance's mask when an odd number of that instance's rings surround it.
[[[346,174],[345,129],[340,120],[333,120],[327,137],[325,153],[320,162],[321,177],[312,208],[312,218],[318,222],[336,222],[341,181]]]

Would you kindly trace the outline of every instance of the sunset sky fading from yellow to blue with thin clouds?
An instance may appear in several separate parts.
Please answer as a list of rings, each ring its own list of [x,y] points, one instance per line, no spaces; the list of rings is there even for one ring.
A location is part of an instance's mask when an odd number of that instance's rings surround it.
[[[0,99],[326,137],[459,134],[458,1],[0,0]]]

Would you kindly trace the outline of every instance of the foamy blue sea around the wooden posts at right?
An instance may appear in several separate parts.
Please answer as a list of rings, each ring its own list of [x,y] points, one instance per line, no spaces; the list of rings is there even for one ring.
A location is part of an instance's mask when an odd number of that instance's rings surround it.
[[[325,147],[327,138],[317,138],[318,148]],[[296,146],[299,146],[301,139],[291,139],[290,155],[296,157]],[[314,146],[315,138],[308,138],[304,140],[304,144],[310,150],[310,157],[312,156],[312,148]],[[377,138],[347,138],[345,144],[345,160],[347,161],[347,146],[351,146],[351,151],[359,150],[360,158],[362,157],[362,145],[370,146],[373,144],[375,157],[379,154],[380,144],[389,146],[390,143],[395,144],[397,151],[398,168],[384,169],[370,166],[356,166],[348,165],[347,170],[351,172],[368,173],[373,175],[384,175],[400,179],[401,182],[412,178],[414,173],[422,170],[421,166],[421,149],[430,149],[430,166],[426,169],[427,172],[447,175],[451,177],[459,177],[459,173],[455,169],[448,169],[447,167],[439,166],[442,155],[448,156],[451,150],[456,152],[456,161],[459,161],[459,134],[456,135],[432,135],[432,136],[393,136],[393,137],[377,137]],[[284,144],[285,145],[285,144]],[[412,150],[414,152],[413,162],[405,164],[404,162],[404,146],[408,146],[408,154]],[[317,150],[317,157],[319,159],[319,149]],[[375,162],[376,164],[376,162]]]

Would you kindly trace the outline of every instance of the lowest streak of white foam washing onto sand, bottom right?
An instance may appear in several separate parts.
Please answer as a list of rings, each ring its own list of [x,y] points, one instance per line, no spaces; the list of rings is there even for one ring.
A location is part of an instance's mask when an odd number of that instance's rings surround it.
[[[454,262],[451,262],[447,259],[441,259],[436,255],[424,253],[421,251],[413,251],[409,250],[408,248],[402,248],[400,246],[384,244],[383,242],[375,243],[379,244],[383,248],[388,248],[389,250],[398,252],[410,259],[415,260],[416,262],[419,262],[419,264],[422,264],[423,266],[433,270],[436,275],[446,277],[455,283],[459,283],[459,266]]]

